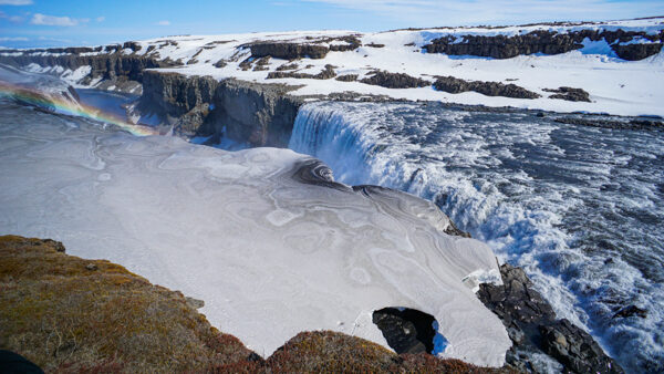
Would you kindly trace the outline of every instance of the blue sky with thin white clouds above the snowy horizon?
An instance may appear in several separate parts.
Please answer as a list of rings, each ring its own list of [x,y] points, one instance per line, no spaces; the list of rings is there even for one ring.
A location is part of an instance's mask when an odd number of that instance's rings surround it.
[[[664,0],[0,0],[0,45],[96,45],[175,34],[614,20]]]

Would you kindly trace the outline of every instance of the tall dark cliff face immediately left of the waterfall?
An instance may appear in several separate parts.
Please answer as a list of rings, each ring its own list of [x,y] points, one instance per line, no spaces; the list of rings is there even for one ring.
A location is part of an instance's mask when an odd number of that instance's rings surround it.
[[[137,106],[185,136],[226,136],[253,146],[286,146],[302,102],[282,85],[148,71]]]

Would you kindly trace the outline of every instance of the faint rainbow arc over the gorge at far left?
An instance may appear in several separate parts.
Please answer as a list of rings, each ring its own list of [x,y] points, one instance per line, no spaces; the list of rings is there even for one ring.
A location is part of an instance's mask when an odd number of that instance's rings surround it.
[[[137,136],[159,135],[159,133],[153,127],[132,124],[117,115],[103,113],[94,106],[79,103],[75,100],[66,100],[65,97],[59,96],[45,96],[43,93],[37,90],[0,81],[0,97],[2,96],[18,100],[38,107],[45,107],[55,113],[82,116],[116,125],[122,129]]]

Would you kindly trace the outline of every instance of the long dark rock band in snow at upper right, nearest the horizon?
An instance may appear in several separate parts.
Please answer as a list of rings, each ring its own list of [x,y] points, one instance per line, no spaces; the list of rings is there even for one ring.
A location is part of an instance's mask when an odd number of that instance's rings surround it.
[[[643,31],[599,31],[580,30],[569,33],[554,31],[532,31],[522,35],[446,35],[424,45],[428,53],[445,53],[449,55],[476,55],[494,59],[511,59],[518,55],[533,53],[560,54],[583,48],[583,41],[604,40],[613,51],[624,60],[642,60],[662,50],[662,32],[651,35]],[[645,40],[649,43],[624,44],[633,40]]]

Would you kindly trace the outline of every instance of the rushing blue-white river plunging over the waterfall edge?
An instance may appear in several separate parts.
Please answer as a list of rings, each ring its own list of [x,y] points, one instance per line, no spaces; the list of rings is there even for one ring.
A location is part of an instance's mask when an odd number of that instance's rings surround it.
[[[630,371],[664,370],[664,133],[531,112],[315,103],[290,147],[435,201]],[[647,318],[613,318],[626,305]]]

